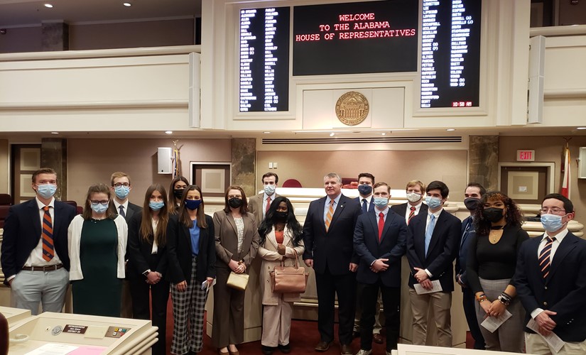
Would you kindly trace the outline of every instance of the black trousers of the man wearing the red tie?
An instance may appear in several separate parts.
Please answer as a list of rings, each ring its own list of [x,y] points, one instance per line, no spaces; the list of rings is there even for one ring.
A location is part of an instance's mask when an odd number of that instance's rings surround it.
[[[362,317],[360,318],[360,349],[372,349],[372,327],[376,315],[376,298],[379,290],[383,300],[383,309],[386,328],[386,351],[397,349],[401,317],[401,288],[391,288],[383,285],[381,280],[374,284],[359,283],[362,292]]]

